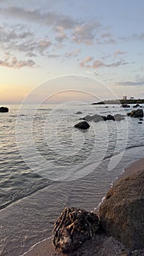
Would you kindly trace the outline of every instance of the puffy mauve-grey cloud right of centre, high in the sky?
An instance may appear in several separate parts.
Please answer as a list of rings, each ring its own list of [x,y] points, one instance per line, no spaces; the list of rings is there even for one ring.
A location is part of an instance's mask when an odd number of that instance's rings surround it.
[[[99,22],[83,23],[75,27],[72,32],[74,42],[91,45],[96,37],[96,30],[100,28]]]

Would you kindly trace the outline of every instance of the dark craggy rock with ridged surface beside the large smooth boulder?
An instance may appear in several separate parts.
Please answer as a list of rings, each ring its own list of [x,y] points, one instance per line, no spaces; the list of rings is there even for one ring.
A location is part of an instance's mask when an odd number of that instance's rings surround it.
[[[53,229],[53,244],[61,252],[75,251],[99,230],[96,214],[78,208],[64,208]]]

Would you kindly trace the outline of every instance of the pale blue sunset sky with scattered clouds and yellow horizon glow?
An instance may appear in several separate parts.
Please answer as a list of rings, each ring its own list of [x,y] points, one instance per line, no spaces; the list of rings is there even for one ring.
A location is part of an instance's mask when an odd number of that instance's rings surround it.
[[[62,99],[63,89],[83,91],[77,76],[99,99],[143,98],[143,24],[143,0],[0,0],[0,104],[20,104],[47,81]]]

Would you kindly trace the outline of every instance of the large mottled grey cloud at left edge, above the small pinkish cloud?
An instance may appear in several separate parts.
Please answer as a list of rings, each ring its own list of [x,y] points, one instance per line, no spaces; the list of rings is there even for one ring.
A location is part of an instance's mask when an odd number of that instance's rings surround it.
[[[26,26],[7,24],[0,26],[0,43],[2,50],[20,51],[29,57],[37,56],[38,53],[44,54],[52,45],[47,37],[37,39]]]

